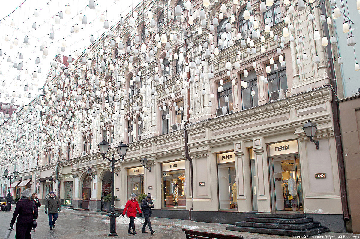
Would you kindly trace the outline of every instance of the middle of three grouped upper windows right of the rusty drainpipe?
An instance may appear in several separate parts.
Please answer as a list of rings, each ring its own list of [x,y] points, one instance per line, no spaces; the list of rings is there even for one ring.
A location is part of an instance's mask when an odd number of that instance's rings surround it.
[[[243,109],[252,108],[258,105],[257,77],[255,71],[250,71],[248,77],[242,77],[242,81],[247,83],[247,87],[241,88]]]

